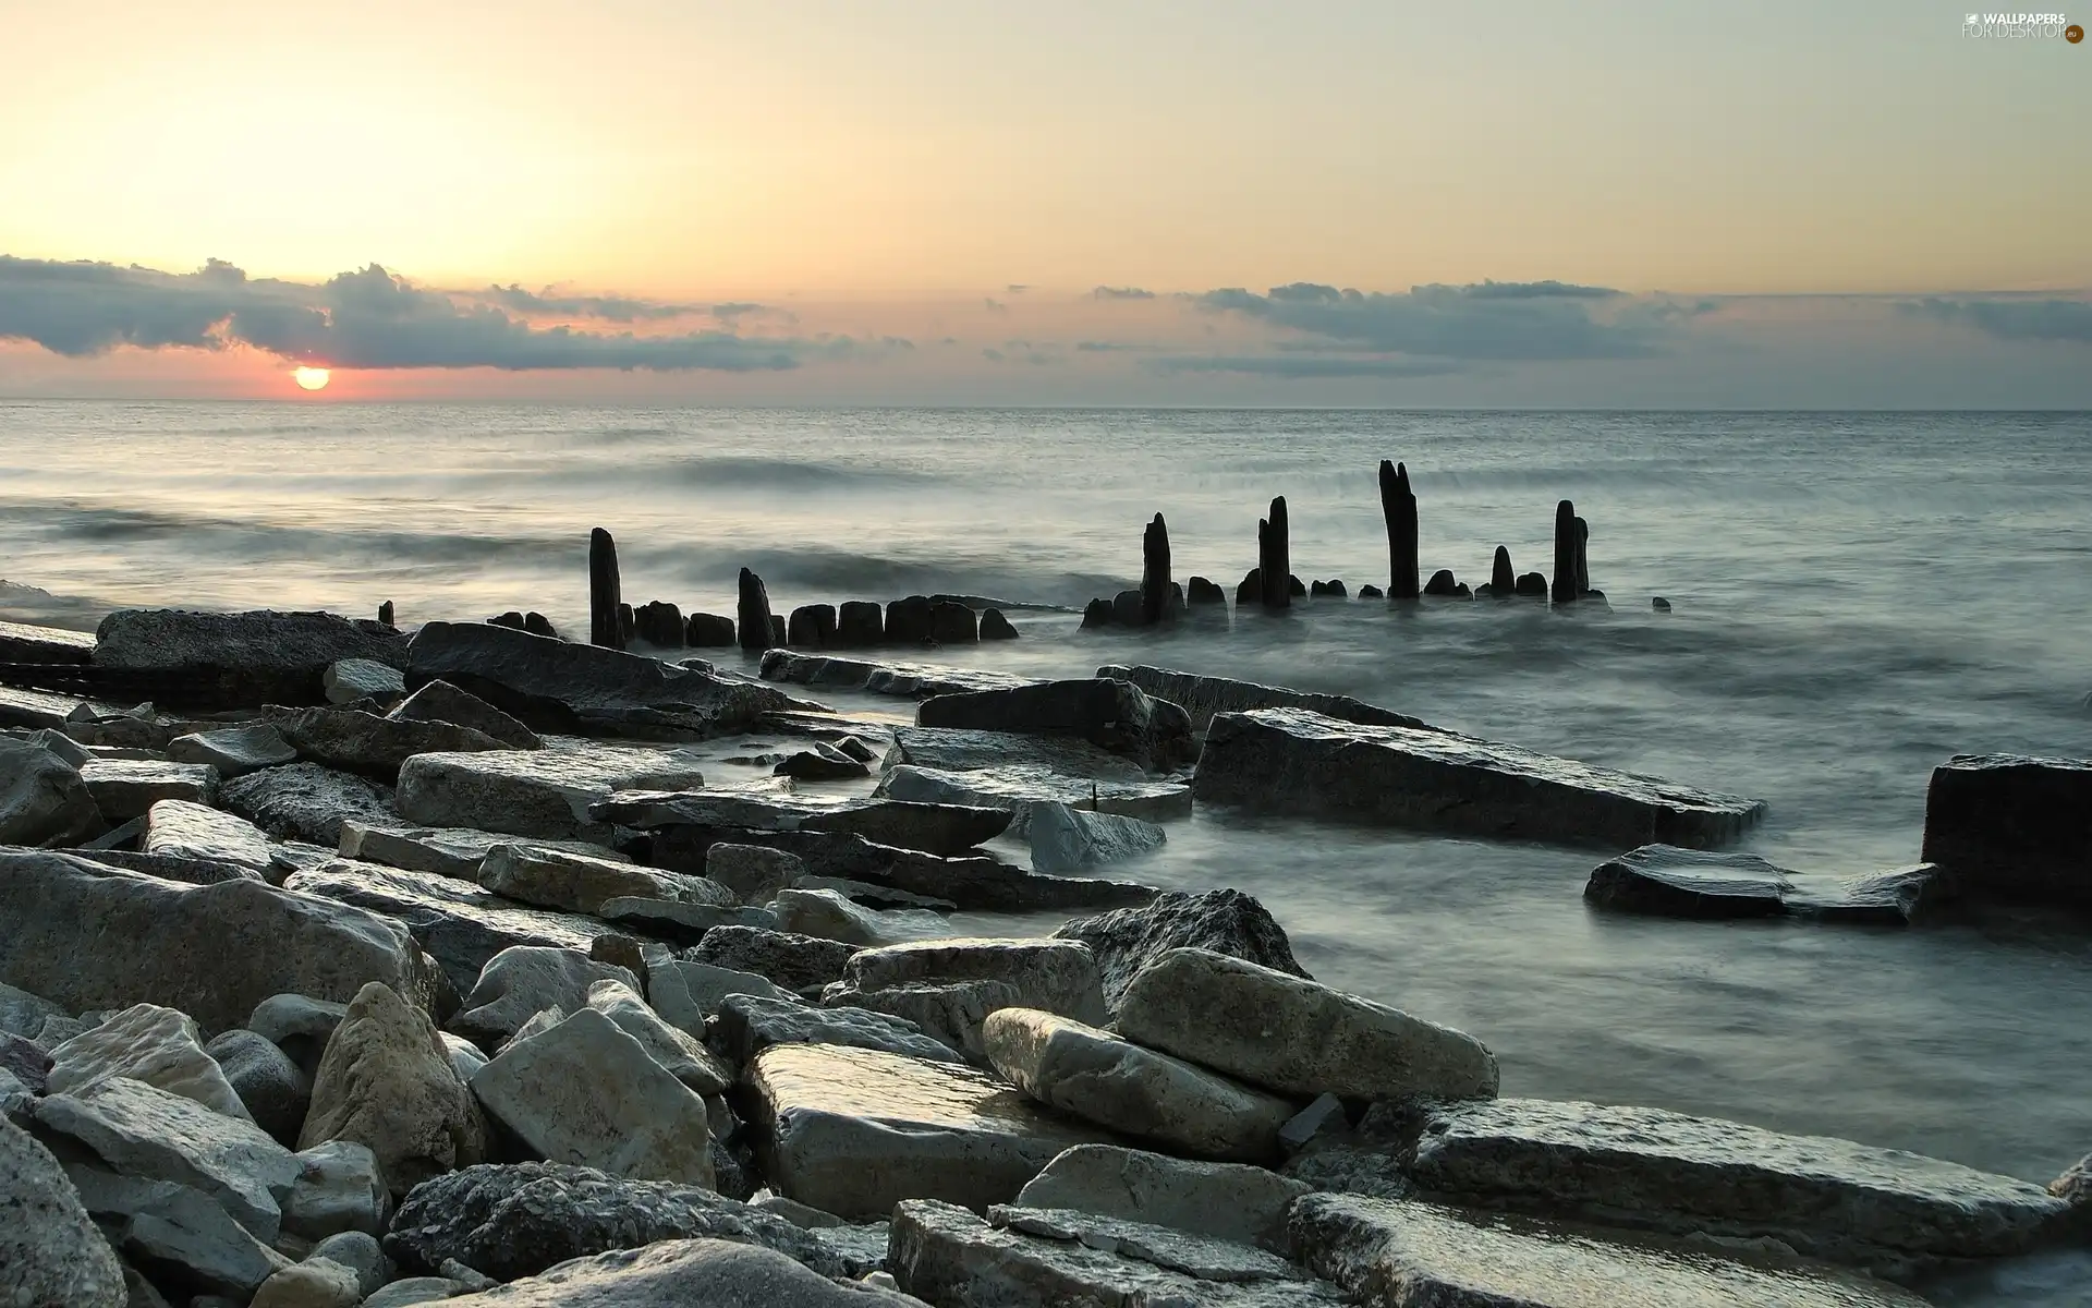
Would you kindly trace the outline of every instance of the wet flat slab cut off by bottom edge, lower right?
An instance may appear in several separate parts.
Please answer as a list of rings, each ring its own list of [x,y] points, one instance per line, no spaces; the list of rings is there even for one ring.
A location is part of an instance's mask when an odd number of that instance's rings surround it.
[[[1431,1203],[1308,1195],[1293,1208],[1301,1258],[1370,1304],[1435,1308],[1923,1308],[1870,1277],[1718,1256],[1705,1245],[1469,1214]]]

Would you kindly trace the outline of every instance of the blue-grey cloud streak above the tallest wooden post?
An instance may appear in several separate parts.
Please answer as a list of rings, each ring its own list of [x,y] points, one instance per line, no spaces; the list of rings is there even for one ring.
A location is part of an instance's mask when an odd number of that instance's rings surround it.
[[[1663,326],[1659,314],[1636,303],[1596,316],[1594,306],[1632,297],[1565,283],[1429,285],[1404,293],[1293,283],[1266,295],[1230,287],[1192,299],[1347,349],[1456,360],[1644,358],[1657,354]]]

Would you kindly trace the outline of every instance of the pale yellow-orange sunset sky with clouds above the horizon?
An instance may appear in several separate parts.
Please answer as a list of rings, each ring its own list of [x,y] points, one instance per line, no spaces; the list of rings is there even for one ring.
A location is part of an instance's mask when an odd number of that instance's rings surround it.
[[[0,396],[2092,408],[2092,44],[1966,19],[0,0]]]

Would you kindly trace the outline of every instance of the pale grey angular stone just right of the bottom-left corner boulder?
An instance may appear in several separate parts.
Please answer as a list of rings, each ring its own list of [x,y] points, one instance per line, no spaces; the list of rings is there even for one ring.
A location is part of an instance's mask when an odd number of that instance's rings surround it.
[[[297,1180],[291,1151],[253,1122],[121,1076],[79,1095],[40,1099],[36,1122],[92,1149],[123,1176],[172,1180],[209,1195],[262,1243],[276,1239],[280,1199]]]

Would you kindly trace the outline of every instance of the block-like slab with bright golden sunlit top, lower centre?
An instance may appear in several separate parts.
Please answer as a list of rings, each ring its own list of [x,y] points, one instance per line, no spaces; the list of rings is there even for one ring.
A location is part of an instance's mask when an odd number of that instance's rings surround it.
[[[1113,1143],[958,1063],[774,1044],[747,1076],[764,1174],[843,1218],[885,1218],[910,1197],[1006,1203],[1063,1149]]]

